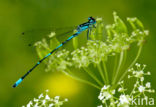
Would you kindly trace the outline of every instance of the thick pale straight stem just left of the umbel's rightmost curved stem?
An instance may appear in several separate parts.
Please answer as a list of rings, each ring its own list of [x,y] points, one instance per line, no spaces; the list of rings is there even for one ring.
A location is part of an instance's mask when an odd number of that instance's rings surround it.
[[[117,67],[117,70],[116,70],[116,74],[115,74],[115,77],[114,77],[114,80],[113,80],[113,83],[112,83],[113,85],[116,83],[116,79],[117,79],[119,71],[121,69],[121,64],[123,62],[123,56],[124,56],[124,51],[122,51],[120,53],[120,60],[119,60],[119,64],[118,64],[118,67]]]

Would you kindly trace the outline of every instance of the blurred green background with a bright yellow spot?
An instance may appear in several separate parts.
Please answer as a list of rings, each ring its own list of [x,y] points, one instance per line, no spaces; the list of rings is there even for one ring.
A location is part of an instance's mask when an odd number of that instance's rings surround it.
[[[89,16],[113,22],[112,12],[125,21],[138,17],[150,36],[139,58],[147,64],[156,89],[156,1],[155,0],[0,0],[0,107],[19,107],[49,89],[50,95],[69,98],[66,107],[96,107],[99,90],[60,73],[45,73],[38,67],[19,87],[13,83],[38,60],[36,52],[23,45],[20,33],[49,26],[75,26]],[[154,96],[154,95],[153,95]]]

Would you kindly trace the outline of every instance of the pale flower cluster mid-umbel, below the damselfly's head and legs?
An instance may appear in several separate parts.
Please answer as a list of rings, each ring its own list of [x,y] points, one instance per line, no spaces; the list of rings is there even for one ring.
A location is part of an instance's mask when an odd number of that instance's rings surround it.
[[[102,41],[88,41],[86,47],[76,49],[71,53],[73,66],[87,67],[90,63],[99,64],[107,59],[110,48]]]

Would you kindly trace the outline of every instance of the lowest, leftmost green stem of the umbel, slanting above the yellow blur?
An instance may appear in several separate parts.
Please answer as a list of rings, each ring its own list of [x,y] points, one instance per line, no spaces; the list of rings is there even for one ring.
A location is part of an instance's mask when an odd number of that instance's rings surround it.
[[[89,82],[89,81],[87,81],[87,80],[84,80],[84,79],[81,79],[81,78],[79,78],[79,77],[76,77],[76,76],[74,76],[70,71],[68,71],[68,72],[70,72],[70,74],[67,73],[67,72],[65,72],[65,71],[62,71],[62,72],[63,72],[65,75],[67,75],[67,76],[69,76],[69,77],[71,77],[71,78],[73,78],[73,79],[75,79],[75,80],[78,80],[78,81],[80,81],[80,82],[82,82],[82,83],[88,84],[88,85],[90,85],[90,86],[93,86],[93,87],[95,87],[95,88],[101,90],[101,88],[100,88],[99,86],[97,86],[96,84],[93,84],[93,83],[91,83],[91,82]]]

